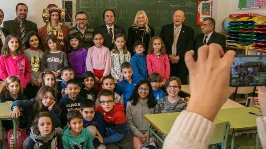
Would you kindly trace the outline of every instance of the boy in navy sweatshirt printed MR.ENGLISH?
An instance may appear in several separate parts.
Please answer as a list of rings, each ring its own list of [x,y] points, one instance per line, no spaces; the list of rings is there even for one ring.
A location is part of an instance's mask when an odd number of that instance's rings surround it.
[[[84,97],[79,95],[80,87],[79,82],[75,79],[70,79],[66,83],[66,95],[59,102],[61,112],[61,124],[64,128],[66,126],[66,114],[70,110],[80,111],[80,103],[85,100]]]

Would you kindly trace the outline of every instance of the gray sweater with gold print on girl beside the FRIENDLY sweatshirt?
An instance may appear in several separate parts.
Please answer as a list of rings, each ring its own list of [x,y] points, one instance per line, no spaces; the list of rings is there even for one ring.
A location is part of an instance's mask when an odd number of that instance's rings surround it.
[[[31,50],[30,48],[24,51],[26,57],[31,64],[31,84],[34,83],[36,79],[39,78],[41,73],[41,61],[44,55],[44,52],[39,50]]]

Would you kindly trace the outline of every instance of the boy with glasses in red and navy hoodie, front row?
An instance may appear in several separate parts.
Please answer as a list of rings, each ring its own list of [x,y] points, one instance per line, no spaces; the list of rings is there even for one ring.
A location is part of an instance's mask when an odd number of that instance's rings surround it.
[[[107,89],[99,93],[98,99],[100,105],[96,107],[96,111],[103,115],[105,136],[102,137],[97,131],[96,138],[98,138],[99,142],[106,144],[108,149],[133,149],[133,140],[126,123],[124,104],[115,103],[114,93]]]

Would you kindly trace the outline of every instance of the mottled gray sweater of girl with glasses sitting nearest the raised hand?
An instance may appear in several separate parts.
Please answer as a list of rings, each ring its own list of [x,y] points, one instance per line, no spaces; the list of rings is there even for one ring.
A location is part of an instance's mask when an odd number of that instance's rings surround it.
[[[165,96],[164,98],[157,101],[155,113],[181,112],[182,110],[185,110],[186,107],[186,101],[181,99],[179,96],[177,101],[173,103],[168,101],[168,96]]]

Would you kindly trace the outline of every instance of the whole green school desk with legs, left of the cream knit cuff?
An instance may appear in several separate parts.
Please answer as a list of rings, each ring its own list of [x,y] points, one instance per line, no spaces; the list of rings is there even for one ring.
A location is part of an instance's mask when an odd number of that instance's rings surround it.
[[[149,137],[150,134],[156,136],[158,140],[164,142],[164,138],[170,132],[174,121],[176,120],[177,116],[180,112],[175,113],[160,113],[160,114],[145,114],[144,118],[150,123],[147,131],[147,136]],[[220,123],[220,120],[214,119],[214,123]],[[153,130],[153,127],[159,131],[160,135]],[[163,135],[163,136],[161,136]],[[147,138],[149,140],[149,138]]]

